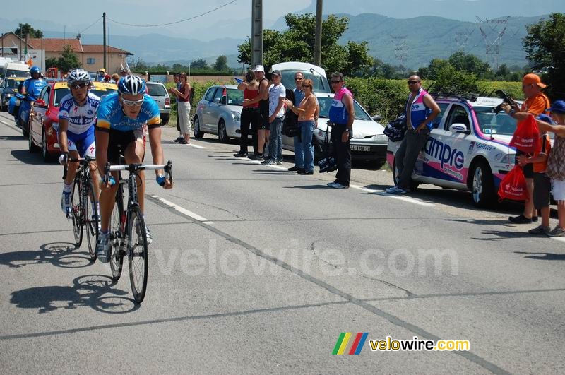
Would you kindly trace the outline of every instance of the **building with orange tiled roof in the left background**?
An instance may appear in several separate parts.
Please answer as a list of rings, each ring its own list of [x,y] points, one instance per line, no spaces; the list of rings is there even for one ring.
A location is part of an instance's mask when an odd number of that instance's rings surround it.
[[[17,44],[19,46],[20,37],[13,32],[7,32],[0,37],[0,41],[6,45]],[[22,40],[25,47],[25,38]],[[28,49],[40,49],[45,51],[45,59],[58,59],[64,52],[64,46],[71,46],[78,61],[81,61],[82,68],[86,71],[98,71],[104,66],[104,46],[103,45],[83,45],[80,39],[63,38],[28,38]],[[22,47],[22,48],[23,48]],[[126,66],[128,56],[133,56],[125,49],[106,46],[106,72],[120,73],[121,66]]]

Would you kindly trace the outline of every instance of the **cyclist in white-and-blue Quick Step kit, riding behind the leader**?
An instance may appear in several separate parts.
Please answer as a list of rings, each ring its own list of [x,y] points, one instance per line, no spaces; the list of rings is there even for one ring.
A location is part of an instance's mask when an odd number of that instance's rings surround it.
[[[96,123],[96,110],[100,105],[100,97],[88,90],[92,87],[90,74],[83,69],[75,69],[66,78],[71,93],[61,100],[59,107],[59,147],[61,157],[59,162],[66,163],[68,157],[95,157],[96,145],[94,141],[94,125]],[[67,157],[68,156],[68,157]],[[71,213],[71,186],[75,179],[78,162],[70,162],[61,196],[61,210],[68,217]],[[93,212],[98,210],[97,202],[100,195],[96,168],[91,169],[94,183]],[[96,211],[95,211],[96,210]]]

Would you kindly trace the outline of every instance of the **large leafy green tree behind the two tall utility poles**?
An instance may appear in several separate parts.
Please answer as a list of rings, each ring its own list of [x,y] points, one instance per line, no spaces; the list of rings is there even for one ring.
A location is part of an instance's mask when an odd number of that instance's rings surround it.
[[[263,30],[263,65],[285,61],[314,61],[314,37],[316,17],[311,13],[287,14],[288,30],[278,32]],[[347,30],[349,18],[330,15],[322,23],[321,66],[327,71],[340,71],[345,76],[360,74],[370,69],[373,59],[369,56],[367,42],[348,42],[339,45],[338,40]],[[251,64],[251,38],[237,47],[238,61]]]

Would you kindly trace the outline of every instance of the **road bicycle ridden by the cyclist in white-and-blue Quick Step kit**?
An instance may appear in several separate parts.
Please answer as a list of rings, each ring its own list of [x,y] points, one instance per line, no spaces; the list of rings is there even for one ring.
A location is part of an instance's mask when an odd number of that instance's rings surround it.
[[[71,187],[71,212],[67,214],[67,218],[73,221],[73,234],[77,249],[83,242],[83,230],[86,229],[88,254],[92,261],[96,260],[96,240],[100,230],[100,218],[93,199],[94,184],[90,176],[91,172],[96,171],[95,160],[95,157],[88,156],[79,159],[66,157],[63,169],[63,179],[66,179],[68,163],[78,162],[78,169]]]

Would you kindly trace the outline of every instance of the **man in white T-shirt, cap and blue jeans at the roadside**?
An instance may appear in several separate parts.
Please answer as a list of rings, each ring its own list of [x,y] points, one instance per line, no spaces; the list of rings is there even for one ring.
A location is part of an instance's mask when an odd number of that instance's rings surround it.
[[[261,162],[263,165],[283,164],[283,135],[281,133],[283,127],[283,117],[285,117],[286,89],[280,82],[283,73],[273,71],[271,80],[273,83],[269,86],[269,157]]]

